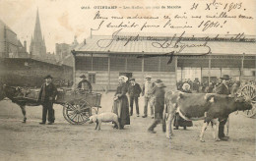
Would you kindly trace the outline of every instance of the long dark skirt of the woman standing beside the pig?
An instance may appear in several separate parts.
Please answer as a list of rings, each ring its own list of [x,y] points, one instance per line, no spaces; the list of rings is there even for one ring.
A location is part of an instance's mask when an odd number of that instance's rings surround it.
[[[114,101],[112,112],[118,116],[121,126],[130,125],[129,103],[127,96],[122,96]]]

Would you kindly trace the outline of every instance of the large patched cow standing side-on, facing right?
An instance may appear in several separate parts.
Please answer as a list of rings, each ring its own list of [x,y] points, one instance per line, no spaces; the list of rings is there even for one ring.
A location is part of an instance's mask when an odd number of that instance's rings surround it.
[[[228,115],[238,110],[252,108],[250,101],[244,97],[229,97],[215,93],[184,93],[181,91],[168,91],[165,93],[165,108],[162,130],[166,130],[166,137],[172,135],[172,121],[175,112],[190,121],[204,120],[200,134],[200,140],[204,142],[204,133],[209,123],[212,123],[213,134],[216,140],[219,138],[219,120],[228,118]],[[165,127],[166,126],[166,127]],[[166,129],[165,129],[166,128]]]

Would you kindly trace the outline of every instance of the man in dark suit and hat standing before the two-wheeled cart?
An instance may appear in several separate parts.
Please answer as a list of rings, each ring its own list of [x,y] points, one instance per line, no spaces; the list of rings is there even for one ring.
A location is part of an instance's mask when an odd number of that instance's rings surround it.
[[[44,79],[45,82],[41,85],[38,95],[38,101],[42,104],[42,122],[40,124],[45,124],[48,112],[48,124],[51,125],[54,123],[54,110],[52,106],[57,95],[57,88],[52,83],[52,77],[50,75]]]

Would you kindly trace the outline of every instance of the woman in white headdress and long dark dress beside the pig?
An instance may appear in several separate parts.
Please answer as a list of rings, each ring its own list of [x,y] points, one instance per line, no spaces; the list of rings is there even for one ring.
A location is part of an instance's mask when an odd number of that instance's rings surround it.
[[[128,78],[125,76],[120,76],[118,78],[119,85],[114,94],[112,112],[118,116],[120,129],[123,129],[125,125],[130,125],[129,103],[126,96],[128,91],[128,86],[126,84],[127,80]]]

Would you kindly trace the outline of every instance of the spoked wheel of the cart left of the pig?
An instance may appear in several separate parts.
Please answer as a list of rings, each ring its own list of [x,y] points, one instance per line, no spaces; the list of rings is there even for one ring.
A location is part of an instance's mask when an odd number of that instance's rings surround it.
[[[85,112],[80,104],[66,103],[63,106],[63,116],[67,122],[73,125],[84,124],[88,121],[89,112]]]

